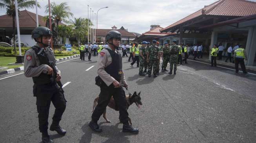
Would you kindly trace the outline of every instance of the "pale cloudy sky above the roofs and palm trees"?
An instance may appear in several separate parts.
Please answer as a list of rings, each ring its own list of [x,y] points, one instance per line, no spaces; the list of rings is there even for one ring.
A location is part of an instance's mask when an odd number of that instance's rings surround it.
[[[150,29],[150,25],[160,25],[165,28],[172,23],[192,14],[205,5],[210,5],[217,0],[51,0],[56,4],[67,2],[71,8],[73,18],[87,18],[87,5],[94,13],[98,9],[98,29],[111,29],[115,25],[118,29],[124,27],[129,32],[144,33]],[[256,2],[256,0],[251,0]],[[38,0],[41,9],[38,14],[45,16],[45,5],[48,0]],[[35,9],[27,9],[34,12]],[[6,13],[0,10],[0,15]],[[89,9],[90,16],[90,9]],[[90,17],[89,17],[90,18]]]

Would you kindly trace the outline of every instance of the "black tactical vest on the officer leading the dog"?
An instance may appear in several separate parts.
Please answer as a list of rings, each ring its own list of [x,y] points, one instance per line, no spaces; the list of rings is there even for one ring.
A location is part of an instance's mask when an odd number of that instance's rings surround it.
[[[107,48],[106,48],[107,49]],[[115,80],[117,80],[118,82],[121,81],[121,77],[122,77],[122,55],[118,52],[114,52],[113,50],[107,49],[112,57],[112,63],[109,64],[109,66],[107,66],[105,68],[105,71],[111,76],[113,77]]]

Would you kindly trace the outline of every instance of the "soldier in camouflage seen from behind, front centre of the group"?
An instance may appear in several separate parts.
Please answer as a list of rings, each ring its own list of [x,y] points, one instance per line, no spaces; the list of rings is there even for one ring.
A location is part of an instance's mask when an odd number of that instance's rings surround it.
[[[153,68],[153,74],[154,77],[156,77],[156,73],[158,71],[158,60],[160,58],[160,50],[158,46],[156,46],[156,40],[153,40],[152,43],[153,45],[147,49],[147,62],[149,63],[148,76],[151,77],[151,72]]]

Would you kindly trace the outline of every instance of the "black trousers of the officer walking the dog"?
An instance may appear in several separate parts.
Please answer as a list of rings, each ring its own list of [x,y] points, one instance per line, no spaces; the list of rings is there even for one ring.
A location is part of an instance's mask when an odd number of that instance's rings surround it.
[[[115,103],[117,104],[119,108],[119,119],[123,124],[128,124],[128,112],[126,110],[126,99],[125,99],[125,92],[123,90],[123,87],[120,88],[114,88],[113,84],[110,86],[105,85],[103,83],[100,87],[100,95],[98,100],[98,105],[95,107],[93,114],[92,114],[92,120],[94,122],[97,122],[104,112],[104,110],[107,107],[107,104],[109,104],[109,100],[111,96],[113,96]]]

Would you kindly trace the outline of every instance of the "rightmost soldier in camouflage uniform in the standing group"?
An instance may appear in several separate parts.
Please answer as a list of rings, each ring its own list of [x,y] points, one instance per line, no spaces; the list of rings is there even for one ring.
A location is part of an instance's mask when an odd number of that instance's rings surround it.
[[[176,45],[177,41],[172,41],[172,46],[170,48],[170,72],[172,74],[172,68],[174,64],[174,75],[176,74],[177,64],[178,64],[178,54],[179,54],[179,47]]]

